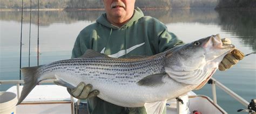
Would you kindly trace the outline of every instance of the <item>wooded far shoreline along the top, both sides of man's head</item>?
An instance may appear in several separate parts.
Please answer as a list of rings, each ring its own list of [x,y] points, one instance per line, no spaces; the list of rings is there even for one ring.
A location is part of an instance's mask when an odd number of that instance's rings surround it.
[[[32,9],[38,8],[32,1]],[[21,9],[21,0],[0,0],[0,9]],[[256,8],[256,0],[139,0],[139,8]],[[23,0],[23,8],[30,9],[30,0]],[[44,0],[39,9],[103,9],[102,0]]]

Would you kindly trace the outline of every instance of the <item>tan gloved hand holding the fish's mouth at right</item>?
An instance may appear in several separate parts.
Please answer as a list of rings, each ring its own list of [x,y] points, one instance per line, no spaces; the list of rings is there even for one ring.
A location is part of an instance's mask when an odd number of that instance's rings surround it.
[[[231,44],[230,39],[227,38],[221,39],[221,41],[223,42],[223,44]],[[228,53],[221,61],[221,63],[219,64],[219,70],[224,71],[231,68],[233,65],[238,63],[239,60],[244,59],[244,56],[244,53],[235,48],[231,53]]]

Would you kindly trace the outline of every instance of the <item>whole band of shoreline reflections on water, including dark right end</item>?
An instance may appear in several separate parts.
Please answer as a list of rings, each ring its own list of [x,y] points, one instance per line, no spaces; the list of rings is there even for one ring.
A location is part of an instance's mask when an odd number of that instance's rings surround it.
[[[213,9],[171,9],[144,10],[145,16],[170,23],[203,23],[220,25],[223,31],[231,31],[241,36],[242,44],[256,50],[256,11],[215,11]],[[75,23],[79,20],[95,21],[104,11],[40,11],[39,25],[49,26],[53,23]],[[21,11],[1,11],[0,19],[21,21]],[[30,12],[24,11],[24,23],[29,23]],[[37,11],[32,11],[32,24],[37,24]]]

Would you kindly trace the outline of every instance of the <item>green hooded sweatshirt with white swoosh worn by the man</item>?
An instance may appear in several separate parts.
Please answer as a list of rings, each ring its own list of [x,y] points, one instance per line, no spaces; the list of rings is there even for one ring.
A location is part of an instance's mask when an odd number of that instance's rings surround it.
[[[76,39],[72,58],[82,56],[87,49],[113,58],[154,55],[179,44],[183,42],[168,32],[163,23],[150,16],[144,16],[139,8],[135,8],[132,18],[122,27],[110,24],[106,19],[106,13],[102,14],[96,23],[86,26]],[[87,105],[89,113],[146,113],[144,106],[124,108],[98,97],[88,98]]]

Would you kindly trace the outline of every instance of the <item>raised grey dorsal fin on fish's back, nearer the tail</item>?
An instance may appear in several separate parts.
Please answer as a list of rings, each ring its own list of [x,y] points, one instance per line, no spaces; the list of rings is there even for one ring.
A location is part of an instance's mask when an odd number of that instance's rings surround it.
[[[80,56],[79,58],[96,58],[96,57],[110,58],[109,56],[103,53],[96,52],[92,49],[87,49],[84,55]]]

